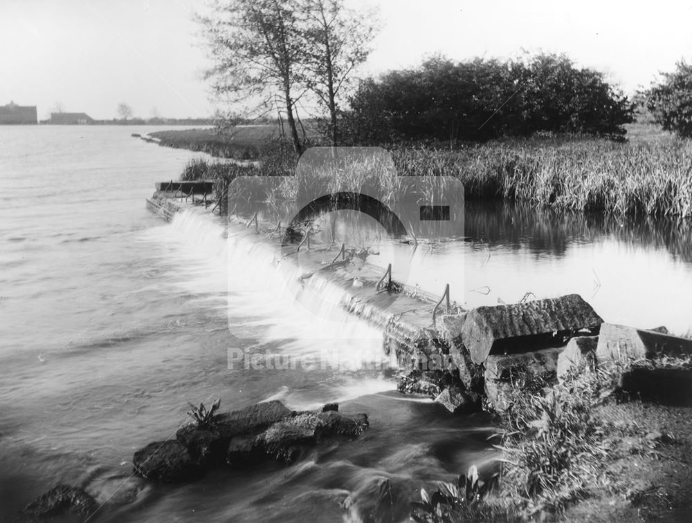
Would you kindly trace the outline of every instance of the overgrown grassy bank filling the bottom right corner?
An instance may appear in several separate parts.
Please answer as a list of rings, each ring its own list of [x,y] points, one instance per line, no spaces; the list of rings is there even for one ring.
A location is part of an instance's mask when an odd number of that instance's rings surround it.
[[[581,368],[562,383],[518,370],[498,435],[502,471],[475,467],[457,484],[421,493],[421,522],[669,520],[692,505],[685,466],[692,448],[689,401],[645,402],[618,386],[632,368],[689,370],[691,360]],[[681,398],[684,400],[684,398]],[[675,519],[678,520],[678,519]]]

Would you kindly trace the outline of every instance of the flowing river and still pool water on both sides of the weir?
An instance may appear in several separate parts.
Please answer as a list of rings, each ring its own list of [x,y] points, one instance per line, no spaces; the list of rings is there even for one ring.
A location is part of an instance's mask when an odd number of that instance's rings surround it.
[[[408,499],[492,457],[488,416],[393,392],[379,331],[336,307],[336,327],[307,322],[271,253],[237,229],[224,239],[199,212],[172,224],[149,213],[154,182],[198,156],[130,137],[151,130],[0,127],[0,520],[54,484],[127,477],[134,450],[169,437],[187,401],[214,397],[224,410],[340,401],[371,426],[291,467],[150,486],[100,520],[343,521],[340,502],[363,484],[389,477]],[[410,254],[365,233],[381,253],[372,263]],[[692,327],[689,236],[671,222],[469,205],[464,241],[419,246],[408,280],[437,294],[451,281],[469,307],[579,292],[606,321],[682,333]],[[319,361],[325,346],[350,365],[228,366],[229,349]]]

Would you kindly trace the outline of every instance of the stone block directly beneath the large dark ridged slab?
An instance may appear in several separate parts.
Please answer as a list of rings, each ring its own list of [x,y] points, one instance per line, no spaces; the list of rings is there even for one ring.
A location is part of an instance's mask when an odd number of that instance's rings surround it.
[[[521,386],[527,376],[543,377],[549,381],[557,370],[563,348],[548,348],[521,354],[491,354],[485,362],[485,394],[498,412],[507,408],[514,386]]]

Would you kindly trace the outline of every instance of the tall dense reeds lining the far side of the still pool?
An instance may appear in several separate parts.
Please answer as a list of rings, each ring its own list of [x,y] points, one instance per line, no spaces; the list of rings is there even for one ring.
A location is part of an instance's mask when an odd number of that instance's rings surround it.
[[[616,216],[692,216],[692,146],[680,140],[507,141],[454,150],[399,149],[394,160],[400,173],[459,178],[466,199]]]

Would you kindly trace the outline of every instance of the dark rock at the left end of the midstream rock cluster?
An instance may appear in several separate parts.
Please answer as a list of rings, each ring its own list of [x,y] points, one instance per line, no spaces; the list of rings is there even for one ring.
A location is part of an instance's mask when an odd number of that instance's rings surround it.
[[[132,465],[140,476],[167,483],[187,482],[201,475],[201,467],[180,441],[150,443],[134,453]]]

